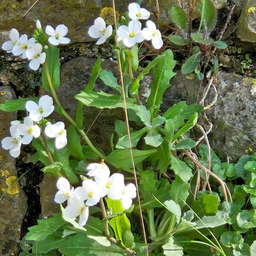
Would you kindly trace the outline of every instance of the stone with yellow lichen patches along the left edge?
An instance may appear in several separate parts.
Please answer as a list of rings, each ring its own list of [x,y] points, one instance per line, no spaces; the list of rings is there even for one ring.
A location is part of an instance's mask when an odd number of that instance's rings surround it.
[[[0,86],[0,103],[13,99],[14,92],[9,86]],[[0,111],[0,140],[9,136],[9,123],[17,119],[17,113]],[[27,209],[27,197],[18,183],[15,159],[9,151],[0,148],[0,255],[17,255],[20,227]]]

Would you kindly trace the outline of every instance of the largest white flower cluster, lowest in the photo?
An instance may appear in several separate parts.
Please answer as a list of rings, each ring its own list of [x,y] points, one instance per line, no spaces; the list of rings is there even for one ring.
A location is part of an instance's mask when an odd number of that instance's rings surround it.
[[[82,186],[70,189],[70,183],[64,177],[57,181],[58,192],[55,202],[62,204],[67,201],[65,215],[68,218],[79,216],[79,225],[84,226],[89,217],[89,207],[99,203],[108,196],[112,200],[121,200],[122,206],[129,209],[132,198],[136,197],[136,187],[133,183],[125,185],[124,175],[114,173],[110,176],[108,166],[102,163],[91,163],[87,166],[87,175],[93,179],[84,180]]]

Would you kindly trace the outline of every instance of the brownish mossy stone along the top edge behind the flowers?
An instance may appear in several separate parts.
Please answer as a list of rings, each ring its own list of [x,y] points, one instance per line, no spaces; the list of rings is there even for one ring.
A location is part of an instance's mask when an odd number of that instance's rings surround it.
[[[127,10],[128,3],[132,0],[116,0],[116,10],[121,14]],[[160,18],[170,22],[170,9],[178,5],[178,0],[159,0]],[[186,7],[186,0],[182,0]],[[41,20],[43,26],[51,24],[56,26],[64,23],[68,26],[68,36],[71,42],[91,41],[87,35],[88,27],[94,18],[99,17],[100,10],[112,5],[109,0],[40,0],[26,14],[35,0],[3,0],[0,5],[0,44],[8,39],[8,32],[15,27],[21,33],[32,35],[35,21]],[[227,0],[214,0],[217,8],[227,6]],[[152,1],[157,12],[156,2]],[[143,1],[142,6],[151,9],[149,1]],[[25,15],[26,14],[26,15]],[[25,15],[25,16],[24,16]]]

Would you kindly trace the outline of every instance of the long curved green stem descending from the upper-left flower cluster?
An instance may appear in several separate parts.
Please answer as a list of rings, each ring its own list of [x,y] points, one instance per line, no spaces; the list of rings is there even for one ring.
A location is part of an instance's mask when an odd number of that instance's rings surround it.
[[[82,130],[82,129],[79,129],[77,128],[76,126],[76,122],[72,119],[72,117],[64,110],[64,108],[62,108],[61,106],[61,103],[59,102],[58,100],[58,96],[55,92],[55,89],[53,87],[53,84],[52,84],[52,79],[51,79],[51,76],[50,76],[50,73],[49,73],[49,69],[48,69],[48,66],[47,66],[47,63],[44,62],[43,64],[44,66],[44,69],[45,69],[45,72],[46,72],[46,76],[47,76],[47,80],[48,80],[48,83],[49,83],[49,87],[51,89],[51,92],[52,92],[52,96],[53,96],[53,99],[54,101],[56,102],[56,104],[61,108],[61,113],[67,118],[67,120],[70,121],[70,123],[72,125],[74,125],[77,129],[77,131],[80,133],[81,137],[85,140],[85,142],[87,143],[87,145],[93,150],[93,152],[95,154],[97,154],[100,158],[104,159],[106,158],[106,156],[104,154],[102,154],[101,152],[98,151],[98,149],[91,143],[90,139],[87,137],[87,135],[85,134],[85,132]]]

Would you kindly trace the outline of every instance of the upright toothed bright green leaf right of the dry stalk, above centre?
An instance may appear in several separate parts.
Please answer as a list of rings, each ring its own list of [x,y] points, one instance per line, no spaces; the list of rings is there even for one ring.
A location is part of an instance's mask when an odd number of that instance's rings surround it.
[[[160,105],[163,100],[163,93],[170,87],[170,79],[176,75],[172,70],[176,62],[173,58],[173,53],[170,49],[162,53],[163,58],[153,68],[154,82],[151,86],[151,93],[148,97],[148,109],[150,109],[151,116],[157,116]]]

